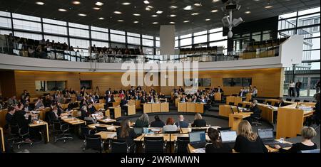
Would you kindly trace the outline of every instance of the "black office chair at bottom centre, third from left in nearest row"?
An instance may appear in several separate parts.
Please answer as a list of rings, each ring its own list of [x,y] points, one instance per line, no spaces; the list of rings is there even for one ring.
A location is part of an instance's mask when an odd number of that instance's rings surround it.
[[[164,153],[166,141],[163,137],[144,137],[143,148],[145,153]]]

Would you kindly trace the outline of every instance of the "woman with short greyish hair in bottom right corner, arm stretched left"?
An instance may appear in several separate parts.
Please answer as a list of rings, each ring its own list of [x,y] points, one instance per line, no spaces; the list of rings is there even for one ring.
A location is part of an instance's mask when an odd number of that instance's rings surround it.
[[[275,149],[279,149],[281,153],[297,153],[304,150],[317,149],[317,144],[313,143],[311,139],[317,136],[317,132],[310,126],[302,128],[301,131],[302,142],[293,144],[290,149],[282,149],[279,145],[275,145]]]

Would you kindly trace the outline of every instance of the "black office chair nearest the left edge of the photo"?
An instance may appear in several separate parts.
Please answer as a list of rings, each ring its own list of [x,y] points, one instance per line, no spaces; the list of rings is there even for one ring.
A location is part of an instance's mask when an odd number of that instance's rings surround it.
[[[18,149],[20,149],[22,144],[30,144],[30,146],[32,145],[32,142],[28,143],[24,141],[26,136],[29,136],[29,128],[26,129],[26,131],[23,131],[17,124],[11,124],[9,125],[9,128],[10,134],[12,135],[12,138],[10,139],[12,141],[12,146],[17,145]]]

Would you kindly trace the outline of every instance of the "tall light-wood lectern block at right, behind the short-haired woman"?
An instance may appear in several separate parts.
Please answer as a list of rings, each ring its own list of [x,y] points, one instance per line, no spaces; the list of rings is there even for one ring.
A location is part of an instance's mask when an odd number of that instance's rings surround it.
[[[291,104],[277,109],[276,138],[295,137],[301,134],[301,129],[306,117],[312,116],[314,110],[303,111],[296,109],[297,104]]]

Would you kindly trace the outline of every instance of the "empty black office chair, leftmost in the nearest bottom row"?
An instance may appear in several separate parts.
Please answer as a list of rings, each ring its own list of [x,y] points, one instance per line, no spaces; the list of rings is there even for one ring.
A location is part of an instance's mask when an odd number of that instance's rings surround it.
[[[85,151],[86,149],[93,149],[101,153],[103,151],[103,141],[101,140],[101,136],[91,134],[86,135],[83,151]]]

